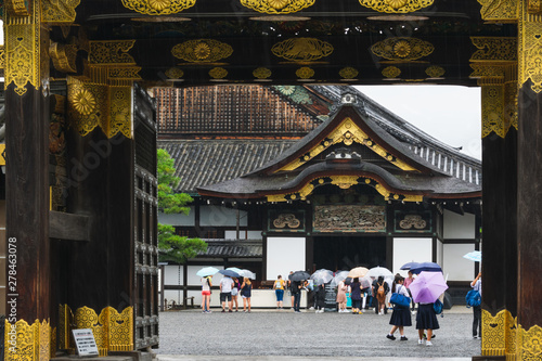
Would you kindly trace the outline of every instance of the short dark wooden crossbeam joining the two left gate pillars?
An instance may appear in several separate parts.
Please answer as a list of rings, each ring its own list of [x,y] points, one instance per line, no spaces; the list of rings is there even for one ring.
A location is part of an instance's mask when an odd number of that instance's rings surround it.
[[[90,217],[50,210],[49,236],[57,240],[90,241]]]

